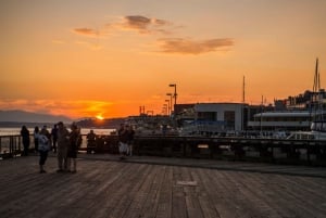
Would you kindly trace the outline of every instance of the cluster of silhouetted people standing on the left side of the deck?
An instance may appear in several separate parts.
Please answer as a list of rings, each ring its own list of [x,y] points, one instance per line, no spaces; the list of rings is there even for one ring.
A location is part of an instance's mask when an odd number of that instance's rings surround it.
[[[29,150],[29,131],[26,126],[22,127],[21,136],[23,138],[24,152],[28,155]],[[58,172],[71,171],[77,172],[77,151],[82,144],[80,129],[75,123],[71,125],[71,131],[59,121],[52,128],[51,132],[43,126],[41,130],[35,127],[34,130],[35,150],[39,152],[40,174],[46,172],[43,166],[48,158],[49,151],[53,150],[58,157]]]

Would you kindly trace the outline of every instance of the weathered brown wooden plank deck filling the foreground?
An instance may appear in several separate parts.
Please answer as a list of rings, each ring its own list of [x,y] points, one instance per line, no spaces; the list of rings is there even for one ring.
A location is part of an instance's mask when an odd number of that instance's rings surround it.
[[[326,170],[213,159],[80,154],[77,174],[48,158],[0,161],[0,217],[326,217]]]

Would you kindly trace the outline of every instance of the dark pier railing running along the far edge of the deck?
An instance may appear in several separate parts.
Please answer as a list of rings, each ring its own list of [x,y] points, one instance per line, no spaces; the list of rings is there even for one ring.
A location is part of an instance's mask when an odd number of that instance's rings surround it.
[[[30,150],[34,141],[30,137]],[[2,158],[20,155],[23,151],[20,136],[0,137]],[[92,143],[83,136],[80,152],[118,154],[117,136],[100,136]],[[286,164],[326,166],[325,140],[288,140],[237,137],[175,137],[138,136],[134,155],[216,158]]]

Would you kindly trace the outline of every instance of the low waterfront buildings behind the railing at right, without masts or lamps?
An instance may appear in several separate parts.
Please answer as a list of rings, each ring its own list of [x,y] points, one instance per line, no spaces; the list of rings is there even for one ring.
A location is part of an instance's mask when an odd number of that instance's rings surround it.
[[[317,100],[314,97],[318,95]],[[187,131],[292,131],[310,130],[312,120],[322,116],[326,93],[305,91],[296,97],[275,100],[274,105],[246,103],[177,104],[175,118]]]

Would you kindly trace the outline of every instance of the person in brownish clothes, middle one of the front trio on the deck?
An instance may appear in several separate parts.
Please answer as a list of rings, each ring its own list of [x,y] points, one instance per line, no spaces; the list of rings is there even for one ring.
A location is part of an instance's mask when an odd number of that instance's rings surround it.
[[[58,123],[58,170],[63,172],[67,170],[67,148],[70,144],[70,132],[62,121]]]

